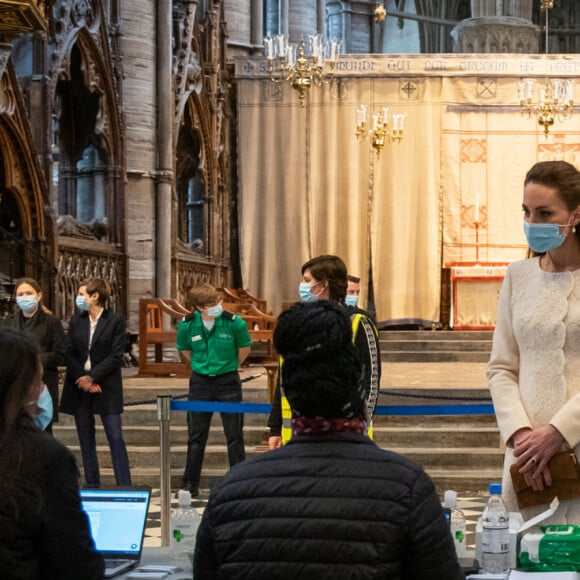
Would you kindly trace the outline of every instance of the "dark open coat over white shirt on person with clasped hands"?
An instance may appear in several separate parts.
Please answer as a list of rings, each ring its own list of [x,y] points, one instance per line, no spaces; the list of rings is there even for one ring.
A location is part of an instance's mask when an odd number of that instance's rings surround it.
[[[90,397],[92,409],[99,415],[116,415],[123,412],[123,377],[121,368],[125,353],[125,321],[110,310],[103,310],[90,347],[91,370],[84,369],[89,355],[90,320],[88,312],[75,314],[67,334],[67,372],[62,391],[60,410],[74,415],[81,397]],[[76,380],[84,375],[92,377],[102,393],[86,393],[79,389]]]

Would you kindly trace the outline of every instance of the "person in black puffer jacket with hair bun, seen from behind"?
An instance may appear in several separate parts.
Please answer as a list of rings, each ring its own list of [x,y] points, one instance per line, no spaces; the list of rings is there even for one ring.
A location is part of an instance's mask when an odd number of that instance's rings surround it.
[[[366,435],[348,311],[295,304],[274,331],[290,441],[234,466],[211,492],[194,577],[464,578],[433,482]]]

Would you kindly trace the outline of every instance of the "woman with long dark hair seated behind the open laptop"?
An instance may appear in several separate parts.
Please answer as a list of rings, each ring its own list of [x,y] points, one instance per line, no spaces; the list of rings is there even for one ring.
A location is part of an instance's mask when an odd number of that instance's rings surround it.
[[[99,580],[74,457],[33,421],[42,371],[36,343],[0,328],[0,578]]]

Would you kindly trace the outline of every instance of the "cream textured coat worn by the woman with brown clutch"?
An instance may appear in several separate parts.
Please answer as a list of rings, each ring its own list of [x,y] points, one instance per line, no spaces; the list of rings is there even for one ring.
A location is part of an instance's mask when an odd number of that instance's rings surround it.
[[[578,455],[580,270],[544,272],[539,258],[508,267],[499,295],[487,378],[504,441],[522,427],[552,424]],[[514,461],[507,449],[503,496],[510,511],[517,511],[509,476]],[[580,518],[580,499],[566,502],[564,507],[572,519]],[[526,519],[532,515],[525,512]]]

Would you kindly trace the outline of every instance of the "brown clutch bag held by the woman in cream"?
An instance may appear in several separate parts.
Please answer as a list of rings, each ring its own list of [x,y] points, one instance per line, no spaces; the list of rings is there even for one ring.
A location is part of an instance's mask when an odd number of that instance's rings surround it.
[[[510,475],[520,509],[549,504],[557,497],[560,501],[580,497],[580,467],[576,455],[570,449],[559,451],[548,463],[552,485],[542,491],[534,491],[524,481],[517,465],[510,467]]]

